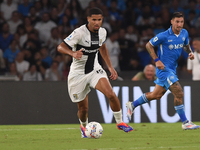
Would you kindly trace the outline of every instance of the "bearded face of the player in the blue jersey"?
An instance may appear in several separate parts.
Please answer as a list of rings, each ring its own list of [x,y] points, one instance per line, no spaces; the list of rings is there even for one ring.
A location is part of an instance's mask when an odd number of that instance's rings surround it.
[[[181,29],[183,28],[184,25],[184,19],[183,17],[177,18],[175,17],[174,19],[171,20],[172,24],[172,30],[175,34],[179,34]]]

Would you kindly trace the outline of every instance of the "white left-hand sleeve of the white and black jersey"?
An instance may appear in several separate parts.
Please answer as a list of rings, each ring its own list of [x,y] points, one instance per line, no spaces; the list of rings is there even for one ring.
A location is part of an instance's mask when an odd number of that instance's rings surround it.
[[[80,32],[74,30],[68,37],[64,39],[64,43],[70,46],[71,48],[74,48],[75,45],[79,42],[80,37]]]

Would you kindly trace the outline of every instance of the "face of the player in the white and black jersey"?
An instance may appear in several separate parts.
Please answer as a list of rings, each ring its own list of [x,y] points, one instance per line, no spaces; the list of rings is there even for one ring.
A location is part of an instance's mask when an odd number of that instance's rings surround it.
[[[88,20],[88,28],[92,32],[98,32],[99,28],[102,25],[103,16],[102,15],[92,15],[87,17]]]

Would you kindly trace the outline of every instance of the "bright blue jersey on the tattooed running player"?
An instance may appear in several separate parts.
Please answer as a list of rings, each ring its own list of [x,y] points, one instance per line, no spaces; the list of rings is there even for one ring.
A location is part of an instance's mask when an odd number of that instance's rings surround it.
[[[189,36],[186,29],[182,29],[179,35],[173,33],[172,28],[157,34],[150,41],[152,46],[158,46],[158,58],[165,65],[165,70],[156,67],[156,75],[165,80],[166,72],[176,74],[178,59],[182,53],[183,45],[189,44]]]

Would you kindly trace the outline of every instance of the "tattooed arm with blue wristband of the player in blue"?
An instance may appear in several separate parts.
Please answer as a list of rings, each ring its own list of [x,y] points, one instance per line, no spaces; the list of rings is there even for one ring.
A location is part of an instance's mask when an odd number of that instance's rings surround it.
[[[146,44],[146,49],[149,52],[150,56],[155,60],[155,65],[158,69],[164,70],[165,65],[158,59],[158,56],[155,53],[155,50],[150,42]]]

